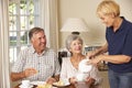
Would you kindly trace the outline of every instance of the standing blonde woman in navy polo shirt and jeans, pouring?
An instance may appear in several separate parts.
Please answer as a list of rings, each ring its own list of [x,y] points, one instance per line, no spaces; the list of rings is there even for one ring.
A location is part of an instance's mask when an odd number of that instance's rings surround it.
[[[132,88],[132,23],[120,16],[120,7],[112,0],[102,1],[97,14],[107,26],[107,43],[88,53],[96,56],[89,63],[108,62],[110,88]]]

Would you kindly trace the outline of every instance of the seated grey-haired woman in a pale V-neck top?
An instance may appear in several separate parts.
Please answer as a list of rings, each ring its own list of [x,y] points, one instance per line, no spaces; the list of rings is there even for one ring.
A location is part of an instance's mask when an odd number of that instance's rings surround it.
[[[70,57],[63,58],[61,79],[68,79],[76,88],[99,88],[101,78],[98,76],[98,69],[92,67],[85,80],[78,81],[78,65],[82,59],[87,59],[82,55],[82,40],[78,35],[69,35],[66,40],[66,47],[72,53]],[[91,87],[92,86],[92,87]]]

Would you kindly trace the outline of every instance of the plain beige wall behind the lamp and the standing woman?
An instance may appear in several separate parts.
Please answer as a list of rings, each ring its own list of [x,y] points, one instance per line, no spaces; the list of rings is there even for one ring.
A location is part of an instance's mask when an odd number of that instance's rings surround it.
[[[82,18],[87,22],[90,32],[81,33],[87,45],[102,45],[105,40],[105,25],[96,15],[96,9],[102,0],[58,0],[59,30],[68,18]],[[121,8],[121,15],[132,21],[132,0],[116,0]],[[59,32],[59,47],[64,47],[65,38],[70,33]]]

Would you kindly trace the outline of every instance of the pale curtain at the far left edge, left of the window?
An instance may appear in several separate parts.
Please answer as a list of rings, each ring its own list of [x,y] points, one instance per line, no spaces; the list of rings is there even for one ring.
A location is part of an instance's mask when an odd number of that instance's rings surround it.
[[[10,88],[8,3],[0,0],[0,88]]]

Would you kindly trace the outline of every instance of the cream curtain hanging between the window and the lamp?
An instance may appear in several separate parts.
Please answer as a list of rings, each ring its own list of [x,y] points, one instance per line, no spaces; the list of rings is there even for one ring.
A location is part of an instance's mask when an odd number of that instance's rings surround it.
[[[58,24],[57,24],[57,0],[41,0],[41,28],[45,30],[47,46],[57,52],[58,48]]]

